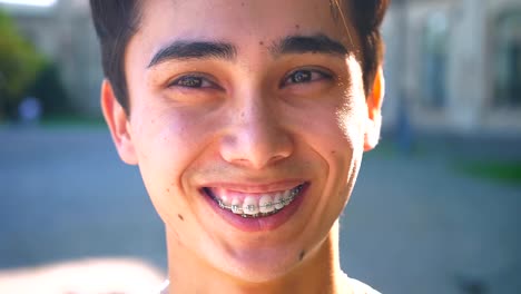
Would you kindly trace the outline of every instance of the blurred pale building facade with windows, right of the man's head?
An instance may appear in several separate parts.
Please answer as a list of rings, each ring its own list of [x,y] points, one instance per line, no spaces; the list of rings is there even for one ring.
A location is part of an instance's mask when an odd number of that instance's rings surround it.
[[[521,1],[394,1],[384,23],[389,127],[521,134]]]

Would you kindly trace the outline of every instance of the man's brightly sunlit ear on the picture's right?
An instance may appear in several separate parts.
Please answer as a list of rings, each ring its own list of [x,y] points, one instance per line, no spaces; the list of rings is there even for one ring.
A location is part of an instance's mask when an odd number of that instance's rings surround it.
[[[385,79],[382,67],[379,68],[374,77],[373,89],[371,90],[367,104],[367,120],[365,124],[364,150],[372,150],[380,140],[380,129],[382,128],[382,104],[385,95]]]

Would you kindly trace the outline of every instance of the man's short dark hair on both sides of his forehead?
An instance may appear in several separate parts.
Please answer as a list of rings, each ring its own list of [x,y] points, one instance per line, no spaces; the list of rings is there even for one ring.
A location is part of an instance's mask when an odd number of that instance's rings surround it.
[[[351,4],[354,27],[361,40],[364,89],[372,88],[376,70],[383,60],[383,40],[380,26],[390,0],[343,0]],[[140,23],[141,1],[90,0],[96,32],[101,45],[101,62],[105,77],[110,81],[121,107],[129,114],[125,52],[130,38]],[[335,3],[341,9],[338,0]],[[344,9],[342,9],[344,10]]]

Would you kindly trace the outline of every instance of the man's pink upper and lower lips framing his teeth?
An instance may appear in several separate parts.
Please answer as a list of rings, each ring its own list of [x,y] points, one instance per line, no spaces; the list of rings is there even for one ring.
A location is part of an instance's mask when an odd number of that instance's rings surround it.
[[[213,184],[216,185],[216,184]],[[210,208],[219,215],[226,223],[232,225],[233,227],[248,233],[254,232],[268,232],[274,231],[288,222],[291,217],[298,210],[298,207],[302,205],[304,199],[306,198],[306,194],[309,187],[309,182],[303,180],[295,180],[295,182],[284,182],[284,183],[275,183],[269,185],[242,185],[242,184],[220,184],[217,185],[218,187],[226,187],[228,189],[233,189],[236,192],[242,193],[271,193],[271,192],[278,192],[284,189],[291,189],[298,185],[303,185],[301,193],[295,197],[295,199],[284,207],[281,212],[258,218],[245,218],[242,215],[234,214],[229,210],[223,209],[219,205],[204,192],[204,188],[200,189],[201,196],[206,199],[209,204]],[[215,187],[215,186],[212,186]]]

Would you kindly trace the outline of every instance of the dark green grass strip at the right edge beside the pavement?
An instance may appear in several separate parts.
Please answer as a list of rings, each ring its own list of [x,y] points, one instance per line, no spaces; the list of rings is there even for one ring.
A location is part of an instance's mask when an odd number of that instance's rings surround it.
[[[468,161],[460,164],[458,169],[479,178],[488,178],[503,183],[521,185],[521,160]]]

